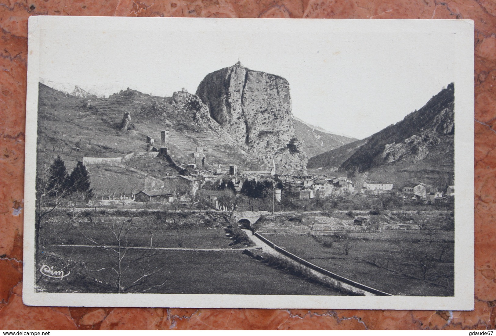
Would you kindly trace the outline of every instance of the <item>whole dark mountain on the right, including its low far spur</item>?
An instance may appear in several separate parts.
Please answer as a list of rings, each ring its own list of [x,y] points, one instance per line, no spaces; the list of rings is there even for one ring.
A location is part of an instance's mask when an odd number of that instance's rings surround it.
[[[454,83],[368,138],[311,157],[307,167],[338,170],[357,181],[453,183]]]

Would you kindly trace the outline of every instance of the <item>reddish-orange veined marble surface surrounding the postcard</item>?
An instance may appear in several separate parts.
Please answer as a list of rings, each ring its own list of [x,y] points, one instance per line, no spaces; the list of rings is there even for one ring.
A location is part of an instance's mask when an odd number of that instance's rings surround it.
[[[495,14],[494,0],[0,0],[0,329],[496,328]],[[30,15],[473,19],[476,29],[475,310],[24,306],[21,298],[22,207],[24,160],[29,160],[24,158],[24,123]]]

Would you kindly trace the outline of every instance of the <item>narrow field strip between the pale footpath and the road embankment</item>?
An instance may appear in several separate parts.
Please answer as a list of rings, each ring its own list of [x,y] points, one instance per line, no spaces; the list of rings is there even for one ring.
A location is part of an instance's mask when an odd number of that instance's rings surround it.
[[[122,229],[128,246],[230,248],[224,218],[205,212],[137,212],[61,210],[43,224],[43,244],[116,244],[113,231]],[[242,247],[242,246],[239,246]]]

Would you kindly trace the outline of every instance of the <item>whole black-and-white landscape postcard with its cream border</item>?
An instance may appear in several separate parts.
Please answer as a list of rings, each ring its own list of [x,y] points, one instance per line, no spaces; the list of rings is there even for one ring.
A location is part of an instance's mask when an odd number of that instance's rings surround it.
[[[31,17],[24,302],[473,309],[473,39]]]

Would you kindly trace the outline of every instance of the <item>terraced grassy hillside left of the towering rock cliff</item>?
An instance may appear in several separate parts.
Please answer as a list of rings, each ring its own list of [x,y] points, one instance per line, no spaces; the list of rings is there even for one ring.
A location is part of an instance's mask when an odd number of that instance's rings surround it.
[[[125,112],[131,117],[127,129],[120,125]],[[169,130],[169,153],[178,164],[194,163],[192,153],[203,147],[205,168],[236,164],[241,168],[267,169],[256,156],[243,151],[210,117],[199,98],[187,92],[173,97],[154,97],[127,89],[109,98],[87,99],[39,84],[38,166],[50,165],[60,155],[70,169],[85,157],[122,157],[147,150],[146,136],[155,138]],[[148,167],[133,164],[160,178],[176,173],[161,160]]]

